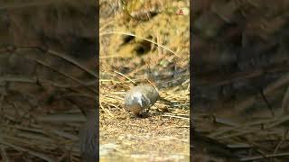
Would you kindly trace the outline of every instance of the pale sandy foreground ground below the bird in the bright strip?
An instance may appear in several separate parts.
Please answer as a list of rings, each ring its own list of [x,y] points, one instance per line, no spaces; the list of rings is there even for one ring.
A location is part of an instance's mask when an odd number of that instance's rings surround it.
[[[152,114],[145,119],[130,117],[124,112],[115,114],[121,117],[112,119],[105,115],[100,117],[101,159],[189,160],[188,120],[163,117],[161,114]]]

